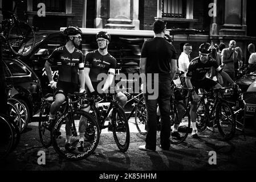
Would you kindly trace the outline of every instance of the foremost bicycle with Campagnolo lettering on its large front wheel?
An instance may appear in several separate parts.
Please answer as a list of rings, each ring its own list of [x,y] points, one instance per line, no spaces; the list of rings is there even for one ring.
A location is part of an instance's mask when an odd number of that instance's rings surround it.
[[[100,129],[96,119],[90,113],[81,110],[85,96],[84,93],[68,93],[66,97],[67,109],[56,119],[51,130],[52,146],[54,150],[65,159],[80,160],[87,158],[94,152],[99,143]],[[83,151],[80,152],[76,145],[79,142],[78,130],[81,117],[86,119],[86,133],[90,133],[92,138],[90,138],[90,140],[87,138],[84,140],[84,148]],[[74,146],[76,150],[67,151],[64,147],[67,135],[70,136],[70,144]],[[86,137],[86,135],[84,137]]]

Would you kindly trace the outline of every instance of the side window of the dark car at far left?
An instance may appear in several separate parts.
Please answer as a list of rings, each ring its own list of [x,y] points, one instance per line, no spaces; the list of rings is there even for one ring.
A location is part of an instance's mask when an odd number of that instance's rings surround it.
[[[5,60],[7,67],[9,68],[11,75],[13,76],[27,76],[30,75],[30,71],[18,61]]]

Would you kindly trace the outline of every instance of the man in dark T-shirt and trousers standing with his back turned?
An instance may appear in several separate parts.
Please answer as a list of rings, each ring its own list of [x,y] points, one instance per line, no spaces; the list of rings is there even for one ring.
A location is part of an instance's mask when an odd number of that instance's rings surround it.
[[[149,89],[143,89],[148,115],[148,132],[146,143],[139,146],[139,149],[144,151],[156,150],[157,104],[161,113],[160,145],[162,150],[170,148],[170,82],[177,72],[178,59],[174,46],[164,39],[165,23],[156,20],[153,31],[155,37],[144,42],[140,58],[140,75],[144,88],[153,88],[152,86],[156,85],[153,94],[158,92],[156,97],[151,97],[152,93],[148,92]],[[155,74],[159,76],[158,80],[153,80]]]

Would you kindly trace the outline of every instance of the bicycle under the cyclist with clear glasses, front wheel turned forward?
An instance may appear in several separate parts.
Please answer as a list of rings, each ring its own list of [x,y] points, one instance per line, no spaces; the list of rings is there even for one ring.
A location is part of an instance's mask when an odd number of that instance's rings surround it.
[[[112,127],[113,137],[115,139],[116,145],[121,152],[125,152],[129,148],[130,143],[130,132],[127,117],[121,106],[117,104],[116,94],[105,94],[103,98],[99,97],[92,100],[85,101],[86,104],[91,106],[90,112],[97,120],[99,124],[100,131]],[[101,101],[110,102],[107,108],[103,106],[97,107]],[[87,105],[87,106],[88,106]],[[104,126],[105,120],[108,118],[110,111],[112,110],[111,123],[110,126]],[[86,133],[89,137],[90,134]]]

